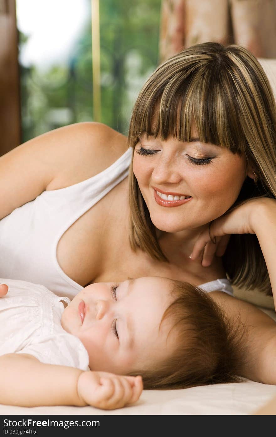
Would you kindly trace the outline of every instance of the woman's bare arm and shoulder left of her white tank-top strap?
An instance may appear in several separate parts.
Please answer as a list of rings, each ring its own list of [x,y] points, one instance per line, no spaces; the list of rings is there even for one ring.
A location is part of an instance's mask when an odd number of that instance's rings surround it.
[[[0,157],[0,219],[35,199],[101,172],[127,139],[101,123],[77,123],[40,135]]]

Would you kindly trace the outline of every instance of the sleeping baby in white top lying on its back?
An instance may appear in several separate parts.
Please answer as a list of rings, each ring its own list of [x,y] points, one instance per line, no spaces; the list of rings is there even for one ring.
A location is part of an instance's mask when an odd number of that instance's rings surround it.
[[[115,409],[136,402],[143,385],[239,381],[238,328],[190,284],[95,283],[70,302],[42,285],[0,282],[2,404]]]

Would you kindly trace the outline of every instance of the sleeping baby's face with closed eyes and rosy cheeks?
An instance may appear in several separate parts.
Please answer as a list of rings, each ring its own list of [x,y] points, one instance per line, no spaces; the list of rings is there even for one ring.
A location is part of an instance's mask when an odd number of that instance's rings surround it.
[[[121,375],[142,370],[170,353],[171,326],[160,322],[172,288],[161,277],[91,284],[65,308],[61,325],[82,341],[90,369]]]

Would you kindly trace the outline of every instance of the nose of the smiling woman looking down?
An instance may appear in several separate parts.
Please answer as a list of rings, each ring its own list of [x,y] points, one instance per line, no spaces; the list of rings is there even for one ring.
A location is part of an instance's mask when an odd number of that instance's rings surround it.
[[[162,155],[155,163],[151,177],[155,184],[178,184],[182,179],[177,160]]]

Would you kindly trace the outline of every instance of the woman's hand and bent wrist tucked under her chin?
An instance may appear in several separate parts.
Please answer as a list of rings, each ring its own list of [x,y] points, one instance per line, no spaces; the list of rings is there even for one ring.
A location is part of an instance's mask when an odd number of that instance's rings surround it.
[[[270,198],[251,199],[211,222],[194,244],[191,260],[202,256],[201,264],[208,267],[215,255],[224,254],[231,234],[255,234],[256,212],[262,205],[275,208],[276,201]]]

